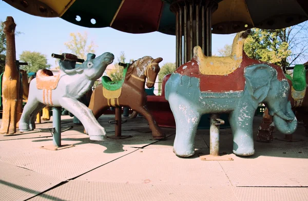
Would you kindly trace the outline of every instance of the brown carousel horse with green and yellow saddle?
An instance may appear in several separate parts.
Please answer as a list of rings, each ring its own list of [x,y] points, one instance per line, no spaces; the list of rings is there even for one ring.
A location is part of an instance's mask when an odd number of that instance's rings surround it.
[[[91,96],[89,109],[93,111],[95,118],[99,118],[109,107],[130,107],[142,114],[149,123],[153,138],[164,138],[165,134],[155,122],[155,119],[146,108],[145,82],[148,88],[152,88],[158,72],[161,57],[153,59],[144,56],[128,65],[123,70],[121,81],[111,81],[107,76],[102,77],[102,84],[98,85]],[[147,79],[147,81],[146,81]]]

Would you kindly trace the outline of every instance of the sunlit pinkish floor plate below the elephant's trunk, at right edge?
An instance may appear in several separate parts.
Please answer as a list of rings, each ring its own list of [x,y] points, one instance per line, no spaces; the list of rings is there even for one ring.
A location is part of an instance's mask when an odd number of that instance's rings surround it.
[[[233,154],[233,158],[233,162],[219,163],[234,186],[308,186],[307,157],[276,149],[268,152],[256,152],[251,157],[239,157]]]

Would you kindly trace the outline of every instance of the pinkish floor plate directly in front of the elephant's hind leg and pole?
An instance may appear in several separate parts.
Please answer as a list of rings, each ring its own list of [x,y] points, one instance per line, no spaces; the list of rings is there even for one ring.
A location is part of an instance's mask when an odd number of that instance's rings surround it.
[[[198,155],[180,158],[172,149],[139,149],[76,180],[150,185],[230,186],[218,162],[204,162]]]

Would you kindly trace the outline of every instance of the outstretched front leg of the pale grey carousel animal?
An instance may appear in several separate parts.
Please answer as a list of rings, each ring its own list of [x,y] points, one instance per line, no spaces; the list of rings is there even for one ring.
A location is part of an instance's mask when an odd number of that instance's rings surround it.
[[[91,140],[102,141],[106,138],[105,129],[98,123],[94,117],[92,110],[80,103],[76,99],[63,97],[59,99],[60,105],[73,113],[85,127],[86,132],[89,134]]]

